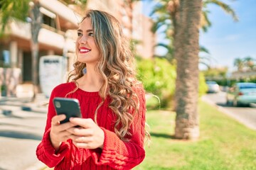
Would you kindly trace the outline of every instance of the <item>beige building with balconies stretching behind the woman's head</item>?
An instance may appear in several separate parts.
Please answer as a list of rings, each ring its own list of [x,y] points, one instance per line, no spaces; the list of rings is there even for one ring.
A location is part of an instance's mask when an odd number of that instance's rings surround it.
[[[65,4],[63,1],[39,0],[39,2],[43,14],[43,24],[38,35],[39,58],[45,55],[67,57],[68,69],[71,69],[75,60],[75,30],[81,20],[78,13],[82,15],[82,11],[73,4]],[[138,54],[142,57],[154,55],[155,37],[150,32],[151,21],[142,15],[142,2],[132,4],[131,8],[124,3],[124,0],[88,0],[87,8],[112,13],[122,24],[127,37],[141,42],[137,47]],[[0,85],[6,84],[9,91],[7,95],[16,94],[17,84],[31,84],[30,30],[30,23],[11,21],[6,28],[6,36],[0,38]],[[13,71],[14,69],[16,71]],[[12,81],[9,83],[7,78]],[[14,85],[9,86],[9,84]]]

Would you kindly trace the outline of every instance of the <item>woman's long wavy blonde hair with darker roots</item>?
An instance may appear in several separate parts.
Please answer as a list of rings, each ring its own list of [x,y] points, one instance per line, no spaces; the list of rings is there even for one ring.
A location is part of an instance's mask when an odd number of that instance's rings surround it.
[[[139,84],[135,77],[134,57],[129,47],[129,41],[122,33],[122,28],[114,16],[104,11],[89,10],[82,18],[90,18],[94,33],[95,43],[101,52],[100,61],[96,70],[103,79],[99,94],[102,102],[95,111],[97,123],[97,111],[103,102],[110,96],[109,107],[117,116],[114,132],[121,140],[128,140],[129,127],[134,116],[130,111],[138,113],[139,99],[132,86]],[[81,21],[81,22],[82,22]],[[75,81],[82,77],[86,64],[75,62],[74,70],[70,72],[68,81]]]

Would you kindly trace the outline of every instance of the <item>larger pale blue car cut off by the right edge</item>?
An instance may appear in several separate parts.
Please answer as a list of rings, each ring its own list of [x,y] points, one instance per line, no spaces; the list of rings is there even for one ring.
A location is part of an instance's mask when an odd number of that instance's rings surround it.
[[[256,83],[236,83],[227,91],[227,104],[233,106],[256,103]]]

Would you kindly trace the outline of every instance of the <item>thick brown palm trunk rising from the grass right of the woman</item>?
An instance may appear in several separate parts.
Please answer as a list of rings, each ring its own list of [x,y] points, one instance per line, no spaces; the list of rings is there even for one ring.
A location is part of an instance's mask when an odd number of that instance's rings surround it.
[[[198,125],[198,52],[202,0],[181,0],[176,13],[174,57],[177,61],[175,137],[196,140]]]

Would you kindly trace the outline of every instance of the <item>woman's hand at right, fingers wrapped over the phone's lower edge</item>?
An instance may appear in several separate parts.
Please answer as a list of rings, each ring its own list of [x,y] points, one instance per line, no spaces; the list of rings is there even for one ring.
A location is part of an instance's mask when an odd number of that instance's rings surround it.
[[[79,125],[79,128],[70,128],[68,132],[71,133],[70,139],[76,147],[86,149],[103,148],[104,132],[103,130],[90,118],[70,118],[70,122]]]

